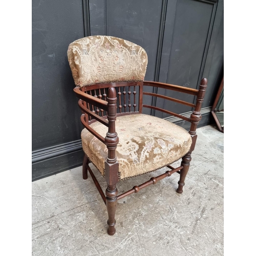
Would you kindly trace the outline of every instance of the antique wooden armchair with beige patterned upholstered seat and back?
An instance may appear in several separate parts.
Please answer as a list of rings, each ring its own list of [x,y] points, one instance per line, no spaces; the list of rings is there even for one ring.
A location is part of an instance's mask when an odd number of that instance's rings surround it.
[[[174,173],[180,174],[177,193],[183,192],[197,140],[196,129],[201,119],[207,79],[199,89],[173,84],[144,81],[147,66],[145,50],[133,42],[112,36],[89,36],[72,42],[68,59],[76,84],[74,92],[82,111],[81,132],[84,159],[83,179],[90,172],[108,210],[108,234],[115,233],[117,200],[156,184]],[[189,103],[165,95],[144,92],[145,87],[158,87],[196,96]],[[156,106],[143,104],[143,95],[160,97],[194,108],[190,118]],[[142,114],[143,108],[162,111],[191,123],[187,132],[164,119]],[[181,160],[178,168],[170,166]],[[89,163],[95,165],[106,181],[105,194]],[[118,195],[117,183],[167,166],[169,170]]]

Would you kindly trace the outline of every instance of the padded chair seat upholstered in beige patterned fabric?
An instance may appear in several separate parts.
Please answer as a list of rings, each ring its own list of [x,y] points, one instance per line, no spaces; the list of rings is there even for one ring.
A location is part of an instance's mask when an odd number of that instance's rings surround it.
[[[108,127],[99,122],[92,123],[91,127],[102,137],[108,132]],[[191,136],[182,127],[144,114],[117,117],[116,132],[119,180],[152,172],[179,160],[192,143]],[[84,153],[104,176],[106,145],[87,129],[82,130],[81,139]]]

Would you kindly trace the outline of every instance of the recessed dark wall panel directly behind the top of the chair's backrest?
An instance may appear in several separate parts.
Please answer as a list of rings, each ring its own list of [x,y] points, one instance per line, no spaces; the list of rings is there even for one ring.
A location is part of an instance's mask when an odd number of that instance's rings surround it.
[[[143,47],[148,66],[145,80],[154,80],[162,1],[107,1],[108,35],[125,38]]]

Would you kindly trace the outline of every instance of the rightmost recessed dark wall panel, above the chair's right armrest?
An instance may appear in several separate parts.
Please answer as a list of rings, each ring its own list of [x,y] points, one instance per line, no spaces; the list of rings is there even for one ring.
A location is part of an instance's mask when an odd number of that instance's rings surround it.
[[[210,4],[178,1],[168,65],[168,83],[197,88],[211,13]]]

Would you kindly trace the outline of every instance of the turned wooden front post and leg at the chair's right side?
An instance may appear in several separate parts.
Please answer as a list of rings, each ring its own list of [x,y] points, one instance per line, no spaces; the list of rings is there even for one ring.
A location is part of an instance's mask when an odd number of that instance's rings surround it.
[[[197,141],[196,130],[197,130],[197,125],[198,125],[199,121],[202,119],[202,115],[201,115],[200,111],[201,111],[201,106],[203,103],[206,87],[207,87],[207,79],[203,78],[200,82],[195,110],[193,111],[193,113],[190,116],[191,125],[190,125],[190,130],[188,133],[191,135],[192,144],[190,146],[189,152],[184,157],[182,157],[181,166],[183,166],[183,169],[180,170],[180,180],[178,181],[179,186],[176,190],[177,193],[179,193],[179,194],[181,194],[183,192],[183,186],[185,185],[185,178],[188,173],[189,166],[190,166],[191,153],[195,149],[195,145],[196,145],[196,141]]]

